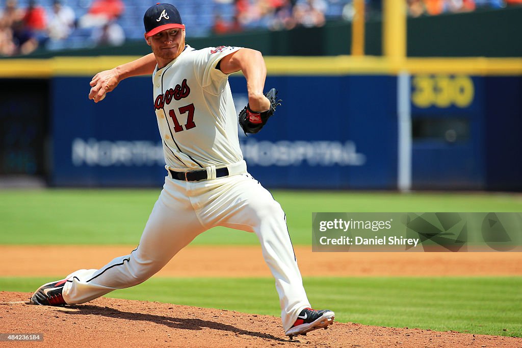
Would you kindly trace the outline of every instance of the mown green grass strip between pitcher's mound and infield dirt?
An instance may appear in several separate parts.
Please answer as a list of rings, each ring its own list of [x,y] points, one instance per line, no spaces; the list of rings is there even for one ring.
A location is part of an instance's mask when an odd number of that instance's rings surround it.
[[[0,278],[0,289],[32,292],[48,281]],[[313,306],[335,310],[341,322],[522,337],[522,277],[306,278],[304,284]],[[280,315],[272,279],[153,277],[109,296]]]

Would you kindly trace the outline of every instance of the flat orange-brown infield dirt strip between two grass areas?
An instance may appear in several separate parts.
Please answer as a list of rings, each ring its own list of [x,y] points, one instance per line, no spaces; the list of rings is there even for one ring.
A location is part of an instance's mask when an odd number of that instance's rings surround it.
[[[78,269],[99,269],[133,249],[131,246],[0,246],[0,276],[66,276]],[[520,252],[312,252],[311,247],[296,247],[295,254],[303,276],[522,275]],[[156,276],[271,275],[259,247],[188,246]]]

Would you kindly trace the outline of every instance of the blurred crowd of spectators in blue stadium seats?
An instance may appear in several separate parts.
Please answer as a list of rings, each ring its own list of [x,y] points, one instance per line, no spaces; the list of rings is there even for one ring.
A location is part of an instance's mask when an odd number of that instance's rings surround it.
[[[67,1],[67,2],[66,2]],[[522,5],[522,0],[404,0],[413,17],[477,8]],[[175,1],[187,35],[321,27],[351,20],[353,0]],[[382,0],[364,0],[367,18],[380,17]],[[139,0],[0,0],[0,55],[121,45],[143,39],[141,20],[149,2]]]

